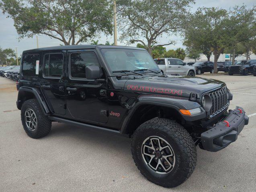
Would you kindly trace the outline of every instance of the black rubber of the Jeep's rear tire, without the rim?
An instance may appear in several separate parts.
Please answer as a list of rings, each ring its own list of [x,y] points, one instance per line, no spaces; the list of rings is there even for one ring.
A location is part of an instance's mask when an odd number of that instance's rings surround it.
[[[29,108],[35,112],[35,115],[37,117],[37,127],[33,131],[29,130],[25,122],[25,112]],[[44,137],[51,131],[51,121],[47,118],[47,116],[45,116],[41,106],[39,106],[39,103],[36,99],[30,99],[25,101],[22,105],[20,115],[23,128],[27,135],[31,138],[37,139]]]

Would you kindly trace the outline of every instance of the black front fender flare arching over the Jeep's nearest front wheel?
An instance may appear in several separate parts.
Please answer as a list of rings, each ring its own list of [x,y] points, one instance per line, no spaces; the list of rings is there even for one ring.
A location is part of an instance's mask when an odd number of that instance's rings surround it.
[[[179,109],[194,109],[194,108],[201,108],[202,113],[195,116],[184,116],[182,117],[185,120],[197,120],[200,118],[204,118],[206,116],[205,110],[201,107],[201,105],[197,102],[189,101],[188,98],[184,97],[177,97],[177,96],[166,96],[166,95],[143,95],[140,96],[137,99],[137,102],[134,103],[131,106],[131,109],[127,112],[127,115],[125,119],[123,120],[123,124],[121,125],[120,132],[122,134],[127,134],[127,129],[129,129],[127,126],[133,116],[133,114],[136,112],[136,110],[139,108],[139,106],[144,104],[150,104],[154,106],[162,106],[167,108],[172,108],[179,112]],[[180,113],[180,112],[179,112]]]

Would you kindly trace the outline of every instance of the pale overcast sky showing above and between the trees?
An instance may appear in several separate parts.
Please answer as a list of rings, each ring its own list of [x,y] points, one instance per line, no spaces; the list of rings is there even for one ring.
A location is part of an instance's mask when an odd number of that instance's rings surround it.
[[[192,11],[195,11],[199,6],[205,7],[221,7],[228,9],[234,5],[242,5],[242,3],[251,7],[256,4],[255,0],[196,0],[196,4],[192,5]],[[14,22],[11,18],[6,18],[6,15],[0,13],[0,47],[2,48],[12,48],[15,46],[18,48],[18,55],[20,55],[23,50],[37,48],[36,38],[23,38],[18,40],[18,34],[13,26]],[[38,36],[39,48],[48,46],[58,46],[63,44],[61,41],[54,38],[49,38],[48,36]],[[113,36],[102,35],[99,38],[99,43],[104,44],[108,40],[109,42],[114,42]],[[169,40],[175,40],[175,45],[166,46],[167,50],[176,49],[182,47],[182,38],[180,36],[163,36],[158,39],[159,44],[167,43]],[[86,43],[84,43],[86,44]],[[125,45],[125,43],[118,42],[118,45]],[[135,44],[130,45],[135,46]]]

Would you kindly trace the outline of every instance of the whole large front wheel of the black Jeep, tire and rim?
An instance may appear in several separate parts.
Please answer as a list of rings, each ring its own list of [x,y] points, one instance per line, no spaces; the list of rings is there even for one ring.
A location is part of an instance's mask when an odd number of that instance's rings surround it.
[[[131,152],[147,180],[168,188],[186,181],[197,161],[191,136],[180,124],[165,118],[141,124],[133,134]]]

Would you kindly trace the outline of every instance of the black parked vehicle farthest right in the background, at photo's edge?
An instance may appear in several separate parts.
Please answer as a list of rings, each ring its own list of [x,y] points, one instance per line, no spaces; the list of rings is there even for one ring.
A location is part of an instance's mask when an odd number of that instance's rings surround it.
[[[228,74],[252,74],[254,65],[256,65],[256,59],[238,61],[235,65],[229,67]]]

